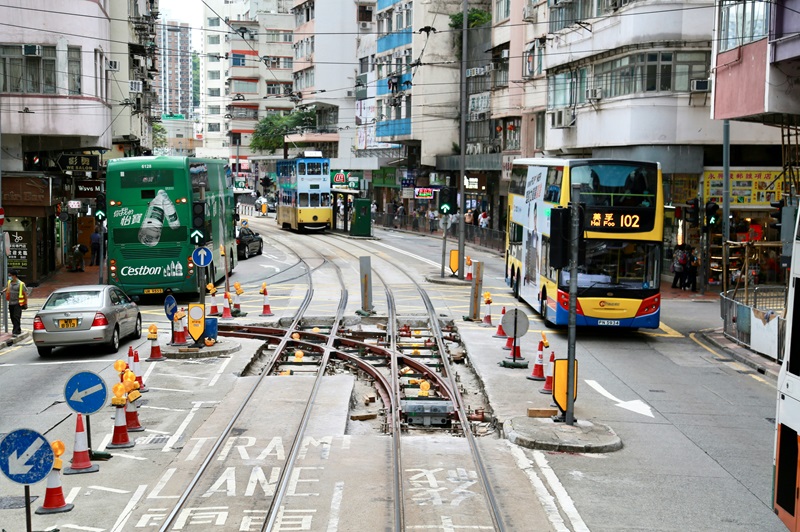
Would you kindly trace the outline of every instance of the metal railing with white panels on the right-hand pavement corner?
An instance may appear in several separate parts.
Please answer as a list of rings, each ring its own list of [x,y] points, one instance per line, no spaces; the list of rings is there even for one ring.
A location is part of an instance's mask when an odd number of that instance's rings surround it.
[[[776,357],[778,363],[783,362],[786,337],[786,320],[780,315],[786,306],[787,289],[785,286],[757,286],[752,290],[728,290],[719,296],[722,332],[730,340],[747,347],[757,353],[763,353],[752,341],[751,318],[760,318],[764,322],[778,320]]]

